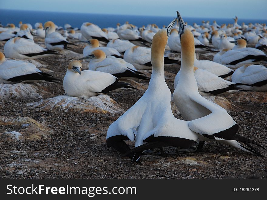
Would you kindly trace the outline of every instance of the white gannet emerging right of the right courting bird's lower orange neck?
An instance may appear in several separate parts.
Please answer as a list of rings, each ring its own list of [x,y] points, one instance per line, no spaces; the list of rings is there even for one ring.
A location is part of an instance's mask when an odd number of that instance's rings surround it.
[[[204,69],[213,73],[221,78],[225,78],[227,76],[232,75],[234,72],[233,69],[228,68],[220,63],[213,62],[211,60],[198,60],[195,56],[194,66],[198,67],[199,69]]]

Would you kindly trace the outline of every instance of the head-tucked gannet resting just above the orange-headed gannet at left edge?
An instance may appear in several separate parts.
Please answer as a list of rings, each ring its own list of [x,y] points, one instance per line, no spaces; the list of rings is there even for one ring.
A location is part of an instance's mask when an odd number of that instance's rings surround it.
[[[34,42],[25,38],[15,37],[9,39],[4,46],[5,56],[17,59],[35,59],[59,54],[55,51],[47,50]]]

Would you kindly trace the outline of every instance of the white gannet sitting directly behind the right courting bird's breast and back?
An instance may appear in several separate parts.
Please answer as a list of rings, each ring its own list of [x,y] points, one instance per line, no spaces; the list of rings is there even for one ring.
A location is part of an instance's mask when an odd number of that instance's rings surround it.
[[[224,80],[209,71],[198,69],[198,67],[194,67],[194,76],[198,84],[198,92],[202,96],[218,95],[225,92],[243,90],[239,85],[244,84]],[[174,88],[177,86],[179,79],[180,71],[175,76]]]

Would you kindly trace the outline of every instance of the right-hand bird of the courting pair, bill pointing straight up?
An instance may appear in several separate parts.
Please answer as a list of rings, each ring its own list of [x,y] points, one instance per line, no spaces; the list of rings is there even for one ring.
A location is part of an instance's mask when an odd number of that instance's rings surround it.
[[[185,25],[179,12],[177,12],[177,18],[182,52],[180,78],[174,90],[173,98],[182,117],[185,120],[190,120],[189,128],[199,134],[199,141],[202,141],[201,145],[204,141],[213,140],[261,155],[248,144],[257,144],[256,142],[236,134],[238,125],[225,109],[199,94],[194,77],[194,36]]]

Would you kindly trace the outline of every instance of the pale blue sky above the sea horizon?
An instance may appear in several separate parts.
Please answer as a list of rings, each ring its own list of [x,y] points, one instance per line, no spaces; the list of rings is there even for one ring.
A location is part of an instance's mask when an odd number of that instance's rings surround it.
[[[1,9],[119,15],[267,19],[267,0],[0,0]]]

